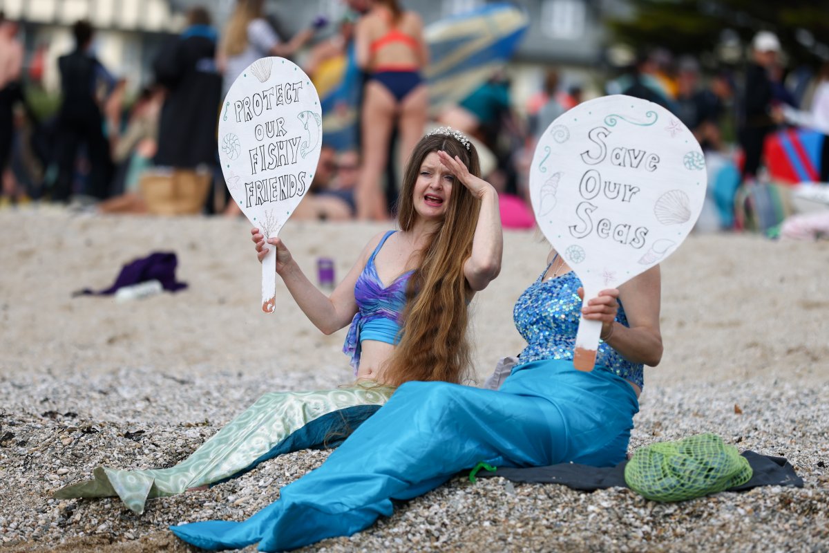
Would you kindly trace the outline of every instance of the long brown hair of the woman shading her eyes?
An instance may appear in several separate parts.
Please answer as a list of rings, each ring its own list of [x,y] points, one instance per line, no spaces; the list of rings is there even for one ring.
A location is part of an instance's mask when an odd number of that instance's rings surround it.
[[[458,156],[469,172],[480,177],[478,152],[457,138],[433,134],[420,139],[405,168],[397,220],[401,230],[411,230],[414,183],[420,165],[432,152],[443,150]],[[400,386],[407,381],[463,382],[470,367],[467,340],[469,287],[463,264],[472,253],[480,201],[457,180],[444,216],[422,250],[417,269],[409,279],[400,344],[385,368],[384,382]]]

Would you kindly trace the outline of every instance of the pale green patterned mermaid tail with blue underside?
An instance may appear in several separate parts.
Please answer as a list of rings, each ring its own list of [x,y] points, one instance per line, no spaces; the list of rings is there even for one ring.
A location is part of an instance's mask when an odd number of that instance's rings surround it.
[[[95,468],[92,480],[57,490],[54,497],[114,497],[137,514],[152,497],[240,476],[276,455],[328,445],[344,438],[383,405],[393,388],[352,386],[337,390],[271,392],[231,420],[190,457],[171,468]]]

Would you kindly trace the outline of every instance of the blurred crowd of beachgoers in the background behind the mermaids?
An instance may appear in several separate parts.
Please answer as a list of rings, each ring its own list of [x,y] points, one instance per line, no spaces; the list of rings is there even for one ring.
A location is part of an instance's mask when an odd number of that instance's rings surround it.
[[[829,181],[829,140],[823,139],[829,133],[829,63],[816,57],[787,67],[773,32],[757,32],[739,64],[705,71],[696,57],[664,47],[638,52],[623,70],[596,71],[589,80],[565,80],[556,67],[546,67],[537,90],[521,100],[506,65],[435,112],[419,13],[396,0],[346,3],[342,20],[317,17],[293,36],[279,36],[274,17],[288,14],[266,13],[264,0],[237,0],[221,23],[211,20],[207,7],[191,7],[187,26],[167,37],[155,57],[153,79],[133,95],[129,75],[114,76],[119,68],[105,67],[96,56],[95,28],[75,22],[75,46],[57,61],[60,103],[46,114],[30,101],[43,57],[25,59],[18,22],[2,17],[0,205],[51,201],[78,211],[238,215],[217,164],[216,125],[236,76],[263,56],[297,61],[318,89],[341,75],[336,85],[351,95],[343,97],[355,98],[354,140],[345,148],[323,143],[297,218],[389,218],[402,160],[429,126],[441,124],[475,140],[484,177],[502,195],[505,225],[529,228],[528,168],[539,136],[567,109],[603,94],[661,104],[695,133],[708,164],[711,228],[746,226],[739,206],[754,202],[757,211],[762,198],[754,191],[761,186],[780,179]],[[318,39],[321,29],[332,27],[337,32]],[[356,70],[332,70],[337,64]],[[345,118],[349,109],[337,101],[329,114]],[[769,193],[780,211],[783,200]],[[785,215],[754,225],[767,230]]]

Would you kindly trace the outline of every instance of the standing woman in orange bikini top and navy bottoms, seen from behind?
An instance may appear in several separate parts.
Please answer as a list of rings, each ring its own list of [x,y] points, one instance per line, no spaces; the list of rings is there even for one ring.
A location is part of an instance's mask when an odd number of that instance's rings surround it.
[[[429,61],[423,21],[397,0],[374,0],[356,27],[356,61],[369,73],[361,116],[362,172],[356,189],[357,217],[388,218],[381,175],[395,124],[405,162],[423,135],[429,97],[420,71]]]

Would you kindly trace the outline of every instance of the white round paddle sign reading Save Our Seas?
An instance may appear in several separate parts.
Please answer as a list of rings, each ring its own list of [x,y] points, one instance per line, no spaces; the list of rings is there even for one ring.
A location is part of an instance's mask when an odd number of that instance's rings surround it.
[[[570,109],[536,147],[536,221],[584,285],[584,299],[618,288],[685,240],[705,201],[696,138],[662,106],[624,95]],[[573,362],[593,369],[602,325],[579,320]]]

